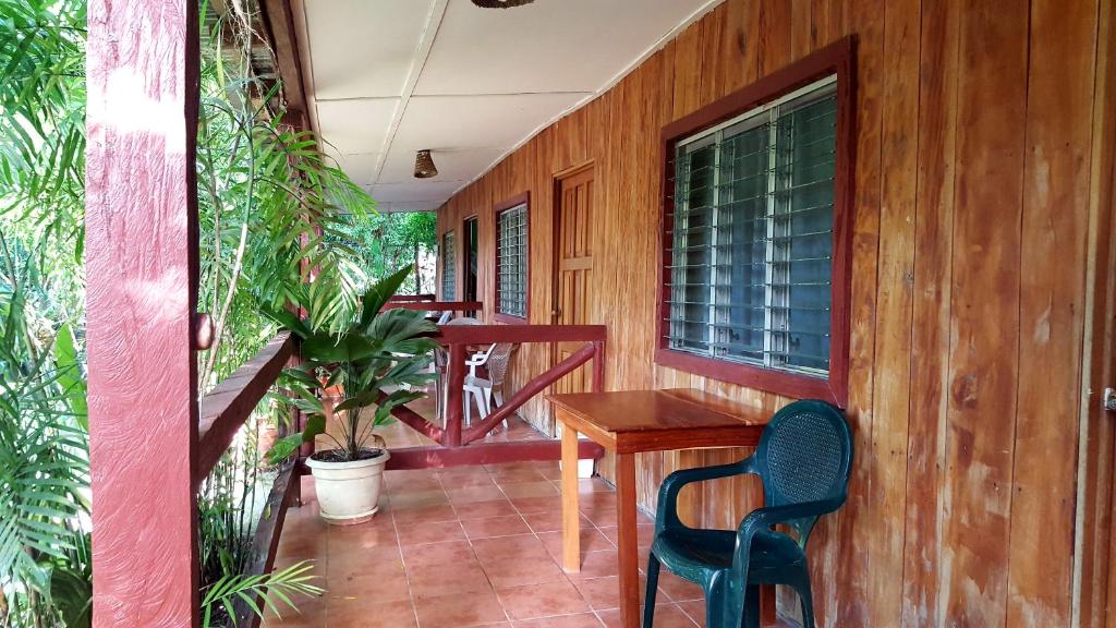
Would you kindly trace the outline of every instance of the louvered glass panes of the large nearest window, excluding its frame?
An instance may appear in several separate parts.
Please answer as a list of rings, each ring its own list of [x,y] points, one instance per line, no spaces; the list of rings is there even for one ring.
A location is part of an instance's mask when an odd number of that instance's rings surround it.
[[[675,144],[670,349],[828,373],[835,87],[822,79]]]

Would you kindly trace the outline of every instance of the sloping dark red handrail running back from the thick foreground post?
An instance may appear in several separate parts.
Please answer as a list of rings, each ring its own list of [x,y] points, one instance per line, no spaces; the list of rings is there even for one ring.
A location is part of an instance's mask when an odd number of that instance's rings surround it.
[[[267,394],[294,352],[295,339],[290,332],[280,333],[202,399],[196,484],[201,484],[221,459],[240,426]]]

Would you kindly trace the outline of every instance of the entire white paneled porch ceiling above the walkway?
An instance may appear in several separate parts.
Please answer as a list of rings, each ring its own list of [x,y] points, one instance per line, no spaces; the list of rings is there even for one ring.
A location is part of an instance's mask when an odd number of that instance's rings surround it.
[[[300,0],[311,120],[383,211],[437,207],[722,0]],[[304,26],[305,25],[305,26]],[[415,151],[439,169],[414,179]]]

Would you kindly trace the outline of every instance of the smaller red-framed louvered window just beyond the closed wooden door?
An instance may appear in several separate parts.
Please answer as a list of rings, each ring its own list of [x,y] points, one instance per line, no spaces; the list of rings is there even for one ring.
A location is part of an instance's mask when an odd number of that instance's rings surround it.
[[[527,318],[527,194],[498,204],[496,221],[497,318],[521,323]]]

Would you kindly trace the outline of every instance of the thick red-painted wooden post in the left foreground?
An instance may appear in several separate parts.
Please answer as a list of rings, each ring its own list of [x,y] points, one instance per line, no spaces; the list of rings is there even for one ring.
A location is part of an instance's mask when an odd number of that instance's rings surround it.
[[[90,0],[94,626],[196,627],[198,3]]]

